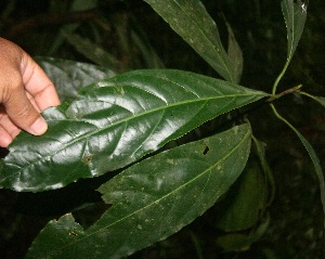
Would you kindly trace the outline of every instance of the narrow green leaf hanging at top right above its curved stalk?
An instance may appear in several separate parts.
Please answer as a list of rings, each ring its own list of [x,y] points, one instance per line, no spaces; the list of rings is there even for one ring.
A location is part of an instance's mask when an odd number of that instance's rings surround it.
[[[283,15],[287,27],[288,53],[291,60],[303,31],[307,17],[307,3],[301,0],[283,0],[281,3]]]

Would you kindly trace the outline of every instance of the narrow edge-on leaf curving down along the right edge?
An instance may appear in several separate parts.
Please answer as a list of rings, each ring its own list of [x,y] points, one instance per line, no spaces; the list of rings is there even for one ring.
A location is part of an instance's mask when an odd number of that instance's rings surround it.
[[[309,141],[289,122],[287,121],[284,117],[282,117],[276,108],[274,107],[273,104],[271,104],[271,107],[275,114],[275,116],[281,119],[282,121],[284,121],[287,126],[290,127],[291,130],[294,130],[294,132],[298,135],[298,138],[300,139],[301,143],[304,145],[313,165],[315,168],[315,172],[316,176],[318,178],[318,184],[320,184],[320,192],[321,192],[321,202],[323,205],[323,213],[324,213],[324,231],[325,231],[325,181],[324,181],[324,173],[321,167],[321,163],[320,159],[316,155],[316,152],[314,151],[314,148],[312,147],[312,145],[309,143]]]

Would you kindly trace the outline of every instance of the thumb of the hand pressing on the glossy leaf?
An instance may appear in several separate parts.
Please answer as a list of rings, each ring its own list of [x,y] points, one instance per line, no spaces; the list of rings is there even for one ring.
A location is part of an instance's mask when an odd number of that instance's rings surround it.
[[[12,91],[3,106],[10,119],[21,129],[35,135],[43,134],[48,130],[46,120],[34,107],[23,87]]]

